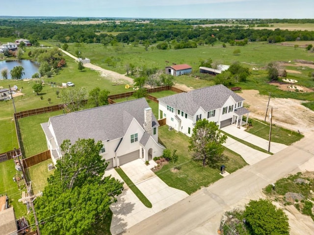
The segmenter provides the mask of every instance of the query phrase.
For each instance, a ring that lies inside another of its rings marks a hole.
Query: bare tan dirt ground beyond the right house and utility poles
[[[256,90],[243,90],[239,95],[245,99],[244,105],[251,111],[249,117],[264,120],[268,96],[260,95]],[[299,130],[302,134],[314,132],[314,112],[301,105],[302,102],[290,98],[271,98],[269,107],[273,107],[273,123]]]

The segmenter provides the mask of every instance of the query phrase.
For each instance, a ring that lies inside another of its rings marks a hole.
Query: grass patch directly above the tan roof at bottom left
[[[16,174],[13,160],[0,163],[0,194],[6,194],[9,197],[9,204],[14,207],[15,217],[19,218],[27,213],[26,205],[18,202],[22,191],[26,189],[19,190],[17,183],[13,181]],[[24,181],[21,181],[21,185],[24,187]]]

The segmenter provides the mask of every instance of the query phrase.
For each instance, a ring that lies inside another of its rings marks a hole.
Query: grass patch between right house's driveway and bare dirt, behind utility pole
[[[269,140],[269,124],[255,119],[251,120],[252,127],[247,129],[246,131],[265,140]],[[287,130],[276,125],[273,125],[271,129],[271,141],[273,142],[290,145],[296,141],[301,140],[303,137],[303,135],[295,131]]]

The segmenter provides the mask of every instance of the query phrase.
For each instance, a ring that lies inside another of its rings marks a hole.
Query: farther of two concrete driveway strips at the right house
[[[222,131],[227,132],[228,134],[235,136],[243,141],[247,141],[256,146],[259,146],[262,149],[268,151],[268,141],[262,139],[261,137],[255,136],[245,131],[246,128],[241,126],[237,128],[235,125],[229,125],[224,128],[221,128]],[[282,143],[270,142],[270,152],[278,153],[279,151],[287,148],[288,146]],[[238,153],[238,152],[237,152]],[[240,154],[240,153],[239,153]]]

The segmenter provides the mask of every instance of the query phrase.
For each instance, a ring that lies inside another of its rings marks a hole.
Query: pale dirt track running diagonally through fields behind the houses
[[[59,50],[61,50],[63,53],[65,53],[66,55],[72,57],[73,59],[75,59],[76,61],[78,60],[78,57],[72,55],[71,53],[62,50],[61,48],[59,48]],[[95,71],[99,71],[100,75],[102,77],[105,77],[106,79],[110,80],[111,82],[114,83],[126,83],[126,84],[133,84],[133,79],[130,77],[127,77],[125,75],[122,75],[118,72],[114,72],[114,71],[110,71],[110,70],[105,70],[97,65],[93,65],[91,63],[86,63],[84,64],[85,68],[89,68],[91,70],[95,70]]]

